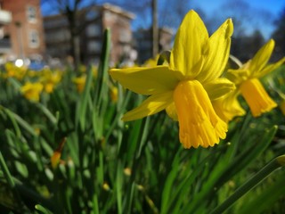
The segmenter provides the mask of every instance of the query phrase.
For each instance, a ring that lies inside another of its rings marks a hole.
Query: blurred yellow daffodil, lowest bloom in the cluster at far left
[[[20,92],[26,99],[34,102],[39,101],[39,95],[43,90],[43,84],[27,82],[24,86],[20,87]]]

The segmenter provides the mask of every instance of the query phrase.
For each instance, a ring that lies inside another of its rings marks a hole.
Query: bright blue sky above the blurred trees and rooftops
[[[118,0],[118,2],[122,1],[123,0]],[[108,1],[97,0],[97,2],[102,3]],[[141,0],[141,3],[143,2],[145,2],[145,0]],[[158,0],[159,9],[171,12],[172,8],[169,2],[168,0]],[[204,12],[205,22],[208,21],[212,25],[216,25],[214,29],[224,22],[225,19],[236,16],[242,21],[242,27],[246,33],[250,34],[255,29],[260,29],[266,39],[268,39],[273,32],[273,21],[278,18],[282,9],[285,8],[285,0],[174,0],[174,2],[175,4],[183,4],[185,11],[199,9]],[[240,11],[239,8],[241,8]],[[46,8],[42,8],[44,15],[48,13],[47,10]],[[167,16],[166,14],[165,16]],[[161,17],[161,19],[163,19],[163,17]],[[180,21],[177,22],[179,23]],[[133,21],[134,28],[146,28],[150,26],[150,24],[151,12],[145,13],[143,18],[137,16]]]

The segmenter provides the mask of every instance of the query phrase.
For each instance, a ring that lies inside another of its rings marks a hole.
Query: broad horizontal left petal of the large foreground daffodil
[[[167,66],[112,69],[109,72],[122,86],[141,95],[157,95],[173,90],[178,82],[175,72],[168,70]]]

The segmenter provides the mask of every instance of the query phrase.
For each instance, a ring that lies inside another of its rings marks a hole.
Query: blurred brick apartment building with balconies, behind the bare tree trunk
[[[132,49],[131,21],[134,14],[111,4],[94,5],[81,11],[85,25],[80,32],[80,57],[83,63],[98,63],[104,29],[111,31],[110,63],[118,62]],[[46,53],[65,60],[71,54],[69,25],[65,16],[58,14],[44,18]]]

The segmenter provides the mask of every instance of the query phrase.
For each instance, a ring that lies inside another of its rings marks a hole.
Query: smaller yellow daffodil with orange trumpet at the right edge
[[[259,78],[264,77],[265,74],[277,69],[285,62],[284,57],[278,62],[266,65],[273,53],[273,48],[274,41],[271,39],[260,48],[252,60],[242,65],[239,70],[228,70],[226,74],[226,77],[237,86],[237,90],[248,103],[254,117],[271,111],[277,106],[259,81]]]

